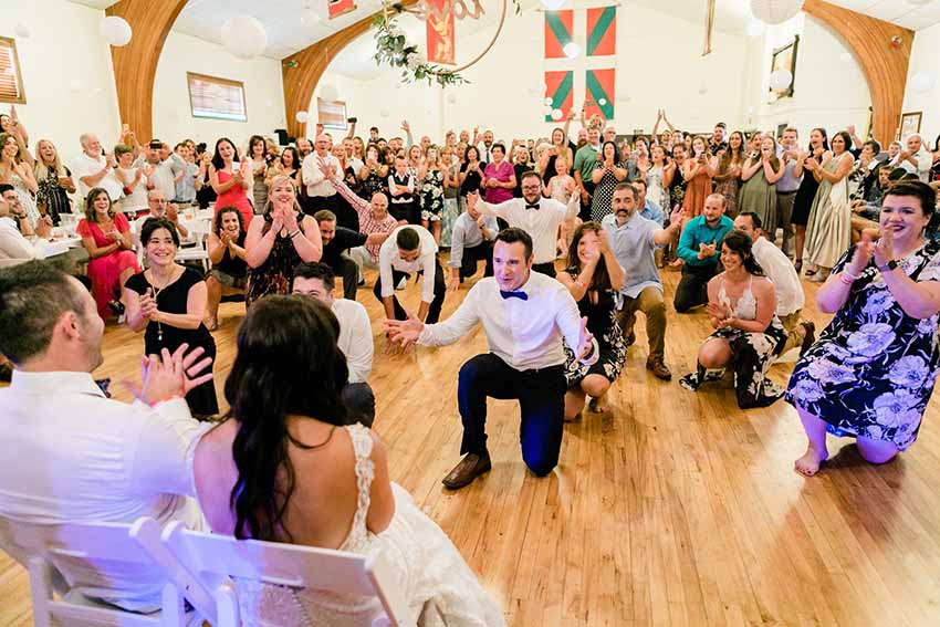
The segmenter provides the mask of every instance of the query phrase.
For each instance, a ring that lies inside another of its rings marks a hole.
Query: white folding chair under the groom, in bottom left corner
[[[29,569],[35,627],[186,625],[182,596],[169,582],[161,588],[160,612],[154,614],[95,600],[127,598],[135,575],[146,582],[161,578],[160,567],[129,530],[121,523],[38,525],[0,518],[0,547]]]

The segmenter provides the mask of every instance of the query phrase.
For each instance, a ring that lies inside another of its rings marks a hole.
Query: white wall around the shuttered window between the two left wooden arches
[[[244,83],[248,122],[192,117],[187,72]],[[220,45],[170,31],[154,81],[156,137],[170,144],[189,137],[197,143],[206,142],[211,149],[216,139],[224,136],[241,151],[251,135],[274,136],[275,128],[285,127],[284,122],[280,61],[264,56],[243,61]]]

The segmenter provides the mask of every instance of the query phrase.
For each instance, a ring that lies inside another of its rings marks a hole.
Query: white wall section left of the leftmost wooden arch
[[[69,161],[82,150],[82,133],[97,134],[105,145],[117,139],[111,50],[98,33],[103,17],[104,11],[63,0],[3,2],[0,34],[17,40],[27,95],[17,111],[31,148],[39,139],[51,139]],[[19,23],[29,29],[29,38],[15,35]]]

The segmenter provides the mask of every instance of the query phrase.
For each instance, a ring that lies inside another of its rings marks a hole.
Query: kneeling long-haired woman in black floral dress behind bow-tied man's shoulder
[[[577,302],[581,315],[587,318],[587,330],[597,339],[599,358],[593,366],[585,366],[565,346],[566,420],[574,420],[581,414],[587,396],[592,397],[592,411],[606,411],[605,395],[627,357],[616,307],[624,280],[624,269],[607,243],[604,227],[599,222],[581,224],[568,248],[567,269],[558,273],[558,281]]]

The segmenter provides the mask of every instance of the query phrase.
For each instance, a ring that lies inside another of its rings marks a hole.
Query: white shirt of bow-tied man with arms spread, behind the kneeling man
[[[581,199],[572,194],[567,207],[552,198],[539,197],[539,209],[526,209],[524,198],[513,198],[499,205],[490,205],[484,200],[477,201],[477,209],[488,216],[497,216],[529,233],[532,238],[532,254],[535,263],[553,263],[555,260],[555,243],[558,226],[577,216]]]

